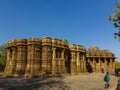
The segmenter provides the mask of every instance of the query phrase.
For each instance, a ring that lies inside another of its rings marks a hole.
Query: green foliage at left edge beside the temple
[[[0,71],[4,71],[6,64],[6,44],[0,46]]]

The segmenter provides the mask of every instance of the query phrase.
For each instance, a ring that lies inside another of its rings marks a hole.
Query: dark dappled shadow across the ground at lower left
[[[0,90],[69,90],[63,77],[12,78],[0,77]]]

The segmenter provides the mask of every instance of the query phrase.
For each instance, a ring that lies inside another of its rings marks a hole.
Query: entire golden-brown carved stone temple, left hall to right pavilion
[[[50,37],[14,39],[7,43],[5,76],[77,75],[88,72],[114,72],[114,54],[91,46],[69,44]],[[88,67],[88,65],[90,67]]]

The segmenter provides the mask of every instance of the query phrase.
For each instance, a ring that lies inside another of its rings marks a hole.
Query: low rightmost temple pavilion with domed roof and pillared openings
[[[91,46],[86,53],[86,60],[92,66],[93,72],[109,71],[114,72],[114,54],[109,50],[99,50],[96,46]]]

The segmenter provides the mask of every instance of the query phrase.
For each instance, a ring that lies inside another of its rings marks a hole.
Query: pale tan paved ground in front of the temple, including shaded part
[[[0,90],[115,90],[117,78],[110,75],[110,88],[104,88],[105,74],[92,73],[65,77],[32,79],[0,77]]]

